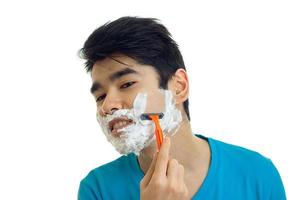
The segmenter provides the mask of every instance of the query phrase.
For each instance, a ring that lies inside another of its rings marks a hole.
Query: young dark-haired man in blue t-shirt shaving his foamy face
[[[92,170],[79,199],[286,199],[271,160],[192,133],[185,65],[157,20],[107,23],[89,36],[81,56],[91,72],[97,119],[123,156]],[[164,114],[159,151],[153,122],[141,119],[149,112]]]

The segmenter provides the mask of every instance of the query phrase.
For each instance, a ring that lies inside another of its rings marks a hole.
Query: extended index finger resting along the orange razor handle
[[[169,150],[171,145],[170,143],[170,138],[166,137],[163,141],[160,151],[158,152],[155,170],[153,173],[153,176],[155,177],[166,176],[167,174]]]

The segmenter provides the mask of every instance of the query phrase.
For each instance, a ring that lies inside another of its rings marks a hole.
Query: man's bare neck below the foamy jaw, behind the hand
[[[190,122],[187,119],[181,122],[179,130],[170,139],[170,158],[177,159],[184,166],[185,171],[199,170],[199,167],[207,165],[209,162],[208,143],[192,134]],[[147,172],[156,151],[156,141],[154,141],[140,153],[138,160],[144,173]]]

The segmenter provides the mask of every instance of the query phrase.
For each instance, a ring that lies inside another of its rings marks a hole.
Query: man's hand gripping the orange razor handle
[[[170,138],[166,137],[140,182],[141,200],[188,199],[184,168],[176,159],[169,158],[170,146]]]

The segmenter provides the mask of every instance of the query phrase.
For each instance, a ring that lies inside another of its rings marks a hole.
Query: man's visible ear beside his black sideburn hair
[[[176,104],[185,102],[189,96],[189,81],[184,69],[178,69],[168,82],[168,88],[172,91]]]

